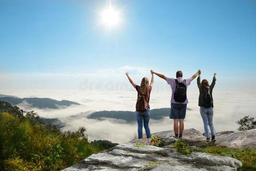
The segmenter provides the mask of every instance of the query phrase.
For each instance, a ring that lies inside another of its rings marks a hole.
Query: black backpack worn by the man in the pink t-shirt
[[[175,82],[174,100],[183,103],[187,99],[187,86],[184,83],[179,83],[177,79],[175,79]]]

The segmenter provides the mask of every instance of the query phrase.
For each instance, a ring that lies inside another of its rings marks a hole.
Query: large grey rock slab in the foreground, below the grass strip
[[[117,145],[71,166],[68,170],[236,170],[241,162],[231,157],[192,152],[184,156],[165,146]]]

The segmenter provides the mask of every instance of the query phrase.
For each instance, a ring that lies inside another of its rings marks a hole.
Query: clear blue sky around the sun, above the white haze
[[[108,2],[1,0],[0,73],[131,66],[255,79],[256,1],[111,1],[121,18],[111,28],[100,16]]]

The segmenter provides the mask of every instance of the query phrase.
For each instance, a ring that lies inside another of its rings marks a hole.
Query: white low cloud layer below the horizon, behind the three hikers
[[[170,91],[151,93],[151,108],[170,108]],[[17,96],[39,96],[50,97],[57,100],[72,100],[82,105],[72,105],[64,109],[34,109],[42,117],[58,118],[66,124],[63,130],[74,130],[78,127],[86,127],[90,140],[107,139],[116,143],[124,143],[133,139],[137,135],[137,124],[127,124],[122,120],[107,119],[95,120],[87,119],[86,116],[94,111],[134,111],[136,103],[136,91],[124,92],[97,92],[80,90],[58,91],[16,91]],[[199,113],[198,92],[188,91],[190,103],[187,110],[185,128],[195,128],[203,132],[203,121]],[[226,92],[214,93],[214,124],[216,131],[237,130],[238,124],[235,121],[243,116],[250,115],[256,117],[254,104],[256,103],[256,93]],[[21,108],[26,110],[29,107],[23,104]],[[135,115],[133,114],[136,120]],[[162,120],[150,120],[151,132],[166,131],[172,129],[172,120],[165,117]]]

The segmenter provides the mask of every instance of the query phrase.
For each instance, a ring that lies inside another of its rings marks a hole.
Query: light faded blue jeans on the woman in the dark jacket
[[[213,107],[210,107],[210,108],[200,107],[200,114],[203,119],[203,125],[204,125],[204,131],[206,133],[206,137],[210,138],[209,127],[211,129],[211,136],[215,136],[215,129],[212,123],[212,118],[214,114]]]

